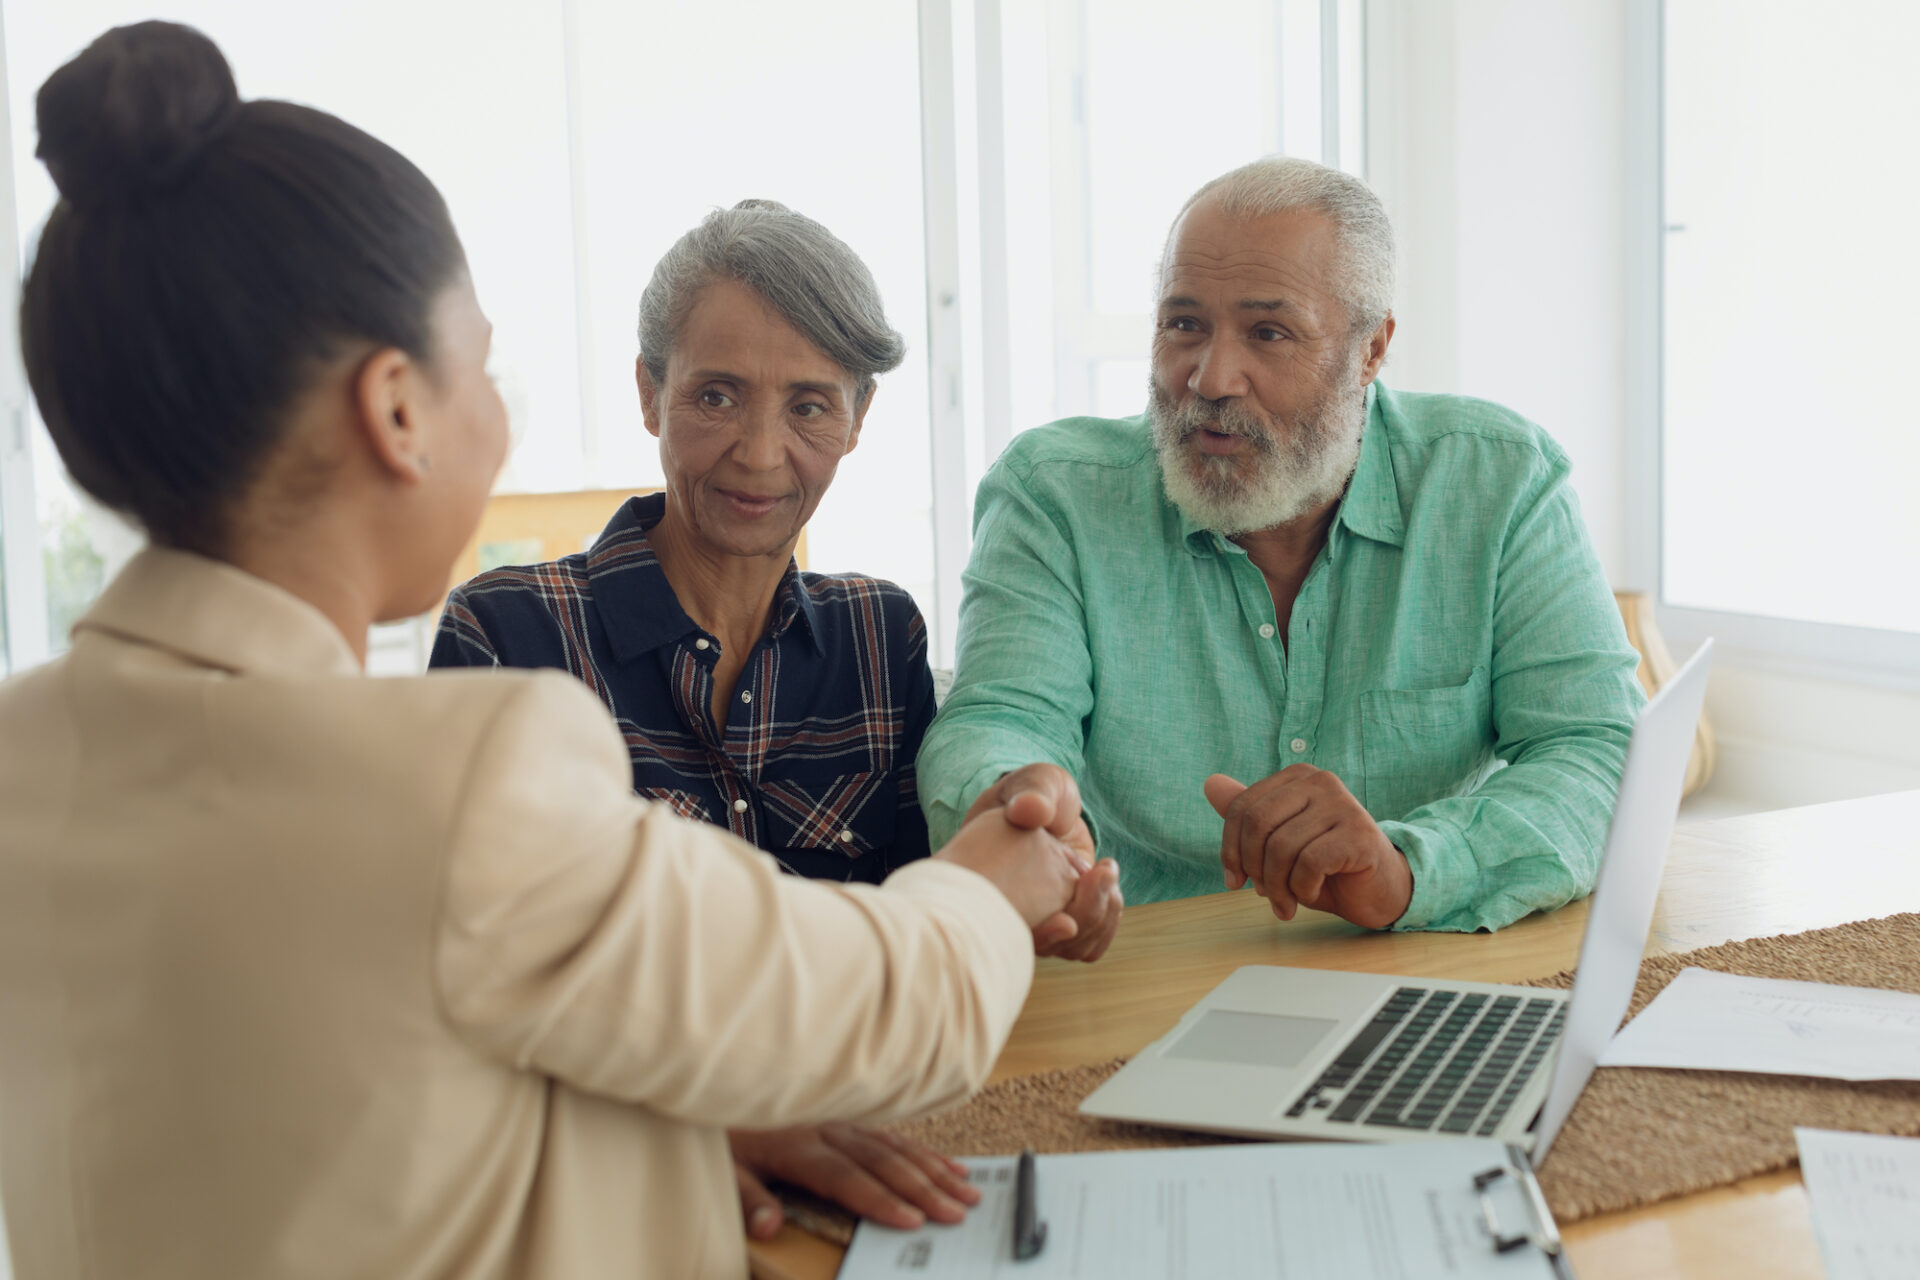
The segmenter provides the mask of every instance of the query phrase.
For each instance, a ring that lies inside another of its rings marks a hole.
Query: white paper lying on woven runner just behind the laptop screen
[[[1682,969],[1599,1065],[1920,1080],[1920,996]]]

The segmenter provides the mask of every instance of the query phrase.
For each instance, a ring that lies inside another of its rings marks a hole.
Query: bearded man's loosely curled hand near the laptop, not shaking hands
[[[1327,770],[1290,764],[1252,787],[1213,773],[1206,798],[1227,819],[1219,837],[1227,889],[1252,881],[1281,919],[1309,906],[1386,929],[1413,900],[1405,854]]]

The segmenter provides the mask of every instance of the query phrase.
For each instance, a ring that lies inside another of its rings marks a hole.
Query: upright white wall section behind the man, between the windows
[[[1622,581],[1622,6],[1373,0],[1369,50],[1369,178],[1402,261],[1386,380],[1548,428]]]

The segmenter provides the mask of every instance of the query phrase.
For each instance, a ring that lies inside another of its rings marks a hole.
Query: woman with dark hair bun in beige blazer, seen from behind
[[[743,1276],[724,1126],[975,1088],[1087,871],[1050,800],[824,885],[566,676],[367,679],[507,447],[440,194],[169,23],[38,127],[29,380],[152,545],[0,685],[15,1274]]]

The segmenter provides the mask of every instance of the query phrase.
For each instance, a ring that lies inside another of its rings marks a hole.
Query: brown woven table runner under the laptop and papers
[[[1640,967],[1628,1015],[1680,969],[1920,992],[1920,915],[1726,942]],[[1571,986],[1572,971],[1530,983]],[[1231,1142],[1085,1117],[1081,1100],[1125,1059],[1016,1077],[973,1102],[895,1132],[948,1155],[1116,1151]],[[1651,1205],[1793,1165],[1793,1126],[1920,1134],[1920,1082],[1853,1084],[1736,1071],[1596,1071],[1561,1130],[1540,1184],[1561,1222]]]

